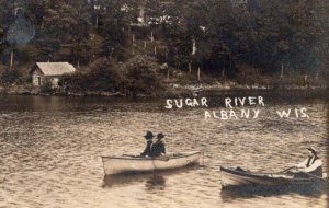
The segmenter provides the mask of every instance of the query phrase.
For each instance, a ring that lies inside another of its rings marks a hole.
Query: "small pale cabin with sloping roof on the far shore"
[[[36,62],[30,74],[34,86],[41,86],[46,82],[50,82],[53,88],[56,88],[61,76],[73,73],[75,71],[76,68],[68,62]]]

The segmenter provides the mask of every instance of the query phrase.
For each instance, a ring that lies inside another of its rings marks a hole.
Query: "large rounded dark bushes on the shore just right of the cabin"
[[[65,76],[59,84],[70,93],[121,93],[127,96],[156,95],[163,90],[163,76],[155,58],[136,56],[115,66],[111,59],[97,60],[84,73]]]

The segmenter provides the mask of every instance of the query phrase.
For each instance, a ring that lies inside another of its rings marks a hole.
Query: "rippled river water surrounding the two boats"
[[[182,109],[166,109],[166,100],[0,96],[0,207],[326,207],[326,192],[220,190],[219,165],[280,171],[304,160],[309,146],[326,158],[324,99],[265,93],[265,107],[245,107],[260,109],[256,119],[205,119],[236,95],[208,95],[208,108]],[[303,107],[307,118],[276,114]],[[100,155],[140,153],[146,130],[164,132],[170,152],[204,149],[204,165],[104,177]]]

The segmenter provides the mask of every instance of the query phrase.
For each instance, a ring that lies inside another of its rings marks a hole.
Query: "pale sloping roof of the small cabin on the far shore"
[[[76,71],[76,68],[68,62],[36,62],[36,66],[44,76],[63,76]]]

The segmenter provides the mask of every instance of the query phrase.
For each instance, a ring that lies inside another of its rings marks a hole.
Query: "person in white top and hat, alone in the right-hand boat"
[[[307,148],[308,158],[295,166],[297,172],[292,172],[296,177],[322,177],[322,162],[314,148]]]

